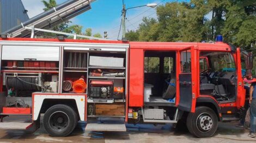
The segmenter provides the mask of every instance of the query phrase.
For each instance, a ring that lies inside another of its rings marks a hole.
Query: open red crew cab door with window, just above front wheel
[[[176,106],[186,112],[195,112],[196,97],[198,96],[197,73],[198,68],[196,61],[199,56],[194,49],[194,46],[186,47],[177,52],[177,67],[176,67]]]

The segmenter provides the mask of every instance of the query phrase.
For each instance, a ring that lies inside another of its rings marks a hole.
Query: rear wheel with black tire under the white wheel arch
[[[42,120],[45,131],[52,137],[66,137],[74,131],[78,117],[67,105],[54,105],[47,109]]]

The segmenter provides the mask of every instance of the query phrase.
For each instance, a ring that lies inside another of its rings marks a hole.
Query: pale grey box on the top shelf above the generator
[[[92,66],[92,67],[124,67],[124,58],[90,56],[89,66]]]

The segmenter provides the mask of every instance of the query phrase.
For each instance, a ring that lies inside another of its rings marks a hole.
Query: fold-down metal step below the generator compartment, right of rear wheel
[[[126,132],[126,127],[125,124],[89,123],[86,125],[86,131]]]

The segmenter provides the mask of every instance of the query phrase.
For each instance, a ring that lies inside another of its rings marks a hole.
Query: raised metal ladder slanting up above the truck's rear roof
[[[51,29],[64,21],[68,21],[69,19],[90,10],[90,3],[94,1],[95,0],[69,0],[56,6],[56,8],[42,12],[40,15],[3,32],[3,34],[7,34],[8,37],[29,37],[31,32],[28,31],[28,27]]]

